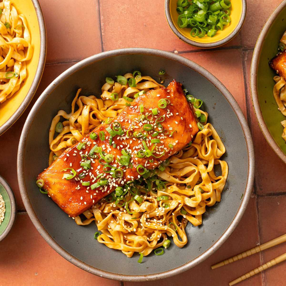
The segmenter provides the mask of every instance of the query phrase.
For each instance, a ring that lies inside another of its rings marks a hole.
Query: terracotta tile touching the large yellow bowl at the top
[[[97,1],[40,0],[39,3],[47,31],[47,63],[79,61],[102,51]]]

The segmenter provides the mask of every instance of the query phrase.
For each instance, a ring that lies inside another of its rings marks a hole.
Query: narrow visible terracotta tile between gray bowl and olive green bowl
[[[250,78],[252,54],[253,51],[247,51],[245,60],[247,79]],[[276,155],[263,136],[255,117],[255,112],[251,101],[250,82],[247,81],[246,84],[249,126],[251,129],[255,150],[255,190],[257,194],[285,192],[284,176],[286,172],[286,165]]]

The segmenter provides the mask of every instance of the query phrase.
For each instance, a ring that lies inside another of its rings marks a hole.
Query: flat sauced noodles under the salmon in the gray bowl
[[[126,79],[134,76],[134,73],[124,75]],[[51,123],[49,164],[102,121],[116,117],[130,104],[126,97],[134,98],[138,92],[162,87],[151,77],[140,76],[140,73],[135,79],[136,87],[118,82],[104,84],[101,99],[80,96],[79,89],[72,102],[72,112],[67,114],[60,110]],[[116,100],[112,98],[114,93],[118,94]],[[101,234],[95,234],[95,238],[109,248],[121,250],[127,257],[138,252],[141,258],[154,249],[155,254],[162,254],[163,250],[157,248],[167,248],[170,244],[168,237],[172,237],[175,245],[183,247],[187,243],[187,222],[194,226],[202,224],[206,206],[221,201],[228,175],[227,163],[220,160],[225,153],[221,138],[207,123],[208,114],[195,106],[194,111],[199,111],[206,120],[191,144],[165,160],[159,168],[150,170],[147,176],[144,174],[119,188],[121,192],[116,190],[100,200],[85,211],[82,218],[76,217],[76,223],[88,225],[94,221],[101,231]],[[61,117],[66,120],[54,139]],[[221,175],[216,174],[216,165],[220,166]]]

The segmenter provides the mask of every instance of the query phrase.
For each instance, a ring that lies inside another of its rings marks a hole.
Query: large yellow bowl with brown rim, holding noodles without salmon
[[[46,59],[46,29],[38,0],[11,0],[18,14],[27,18],[33,56],[27,63],[27,77],[20,89],[0,104],[0,135],[21,116],[31,102],[41,80]]]

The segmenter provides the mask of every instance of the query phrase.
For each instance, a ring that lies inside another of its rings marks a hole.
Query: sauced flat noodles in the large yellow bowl
[[[19,90],[27,77],[26,61],[33,55],[27,19],[11,1],[0,2],[0,103]]]

